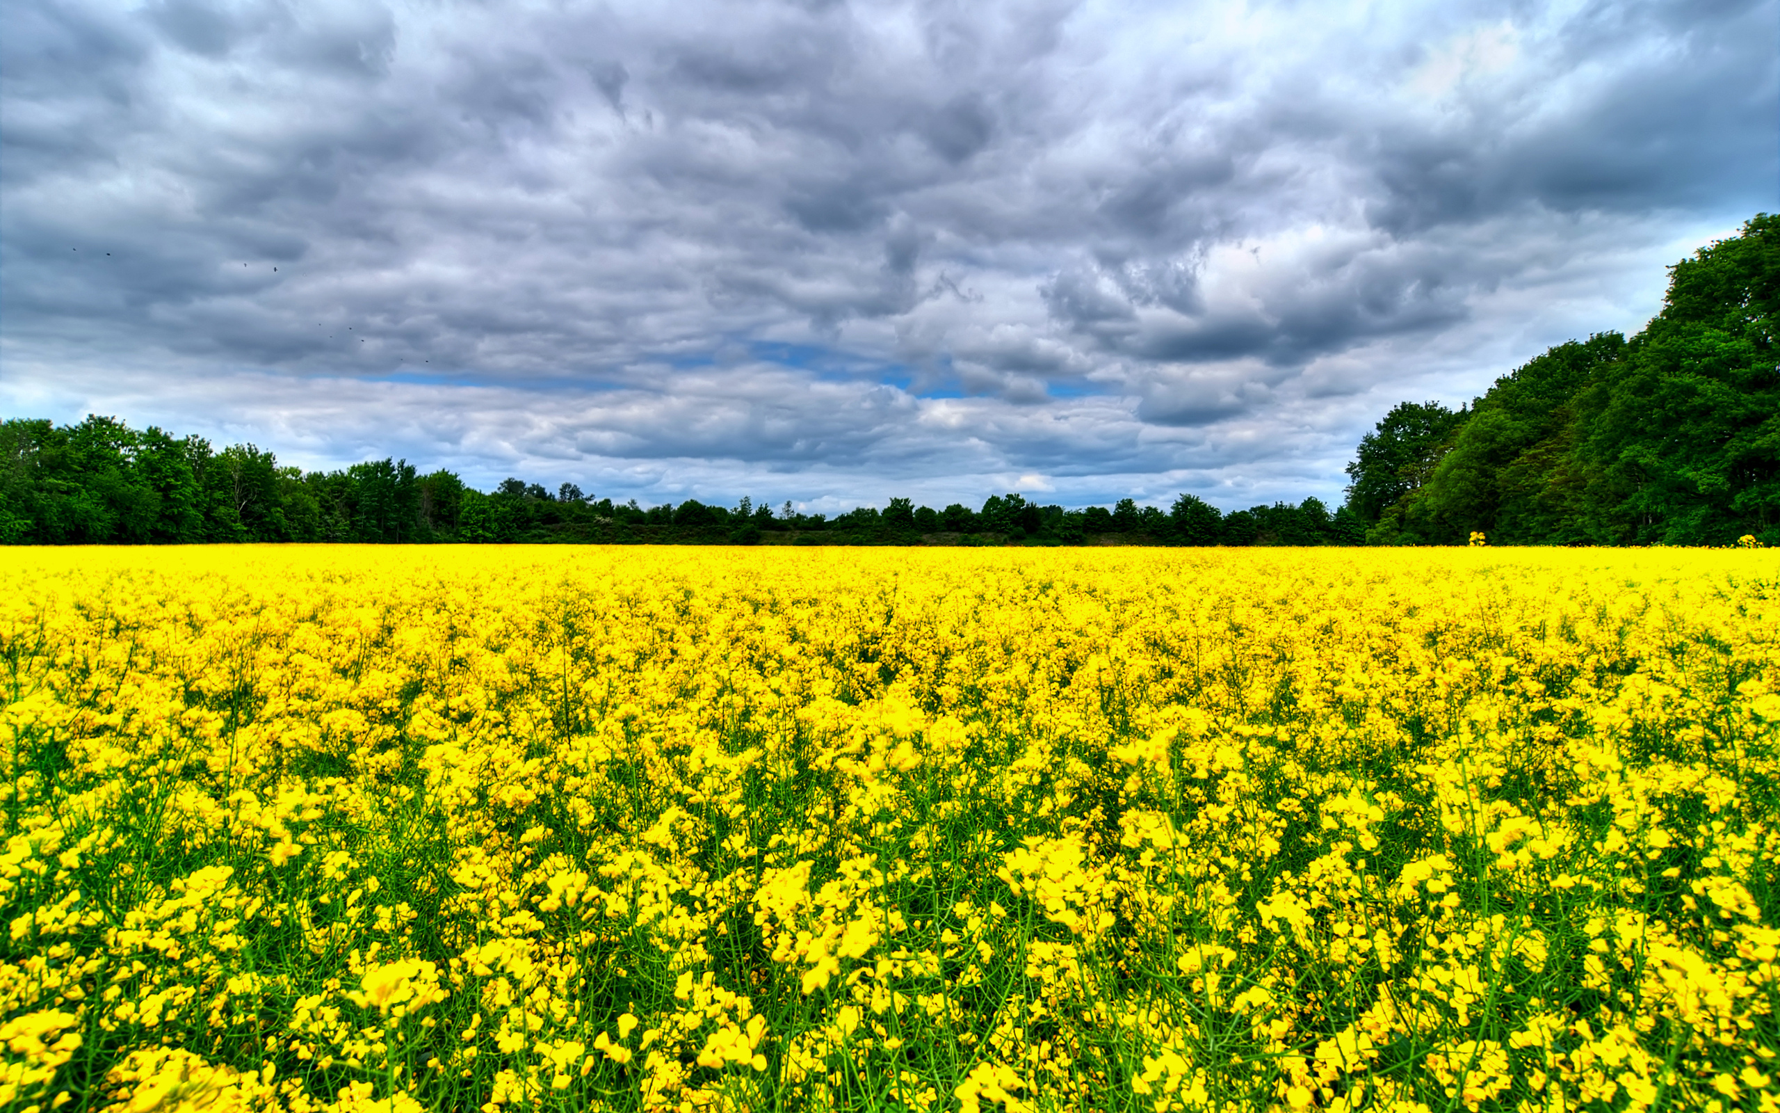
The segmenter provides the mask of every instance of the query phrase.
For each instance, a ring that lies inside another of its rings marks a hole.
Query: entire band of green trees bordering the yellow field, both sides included
[[[1472,404],[1403,402],[1360,442],[1347,500],[1221,513],[1123,499],[1064,509],[1022,495],[933,509],[910,499],[833,518],[685,500],[614,504],[564,483],[493,492],[402,459],[336,472],[255,445],[132,429],[0,424],[0,541],[578,541],[790,545],[1780,545],[1780,219],[1671,267],[1630,340],[1552,347]]]

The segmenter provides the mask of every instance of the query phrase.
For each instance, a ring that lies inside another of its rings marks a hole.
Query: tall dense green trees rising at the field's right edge
[[[1630,340],[1559,344],[1458,411],[1404,402],[1347,465],[1374,545],[1780,545],[1780,217],[1670,269]]]

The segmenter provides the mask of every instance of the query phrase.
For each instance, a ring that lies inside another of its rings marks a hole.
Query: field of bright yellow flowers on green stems
[[[0,557],[5,1109],[1780,1109],[1780,563]]]

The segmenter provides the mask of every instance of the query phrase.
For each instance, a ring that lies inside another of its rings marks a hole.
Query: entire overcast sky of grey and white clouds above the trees
[[[1776,208],[1776,0],[0,5],[0,413],[644,504],[1340,500]]]

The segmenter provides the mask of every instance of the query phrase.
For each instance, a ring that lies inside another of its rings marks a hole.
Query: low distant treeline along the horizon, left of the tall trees
[[[1182,495],[1171,511],[1132,499],[1107,509],[1040,506],[991,495],[979,509],[892,499],[885,509],[801,515],[742,499],[643,508],[507,479],[493,492],[402,459],[340,472],[279,467],[253,445],[212,449],[201,436],[132,429],[109,417],[78,426],[0,426],[0,540],[23,545],[199,541],[578,541],[803,545],[1356,545],[1358,518],[1323,502],[1223,515]]]

